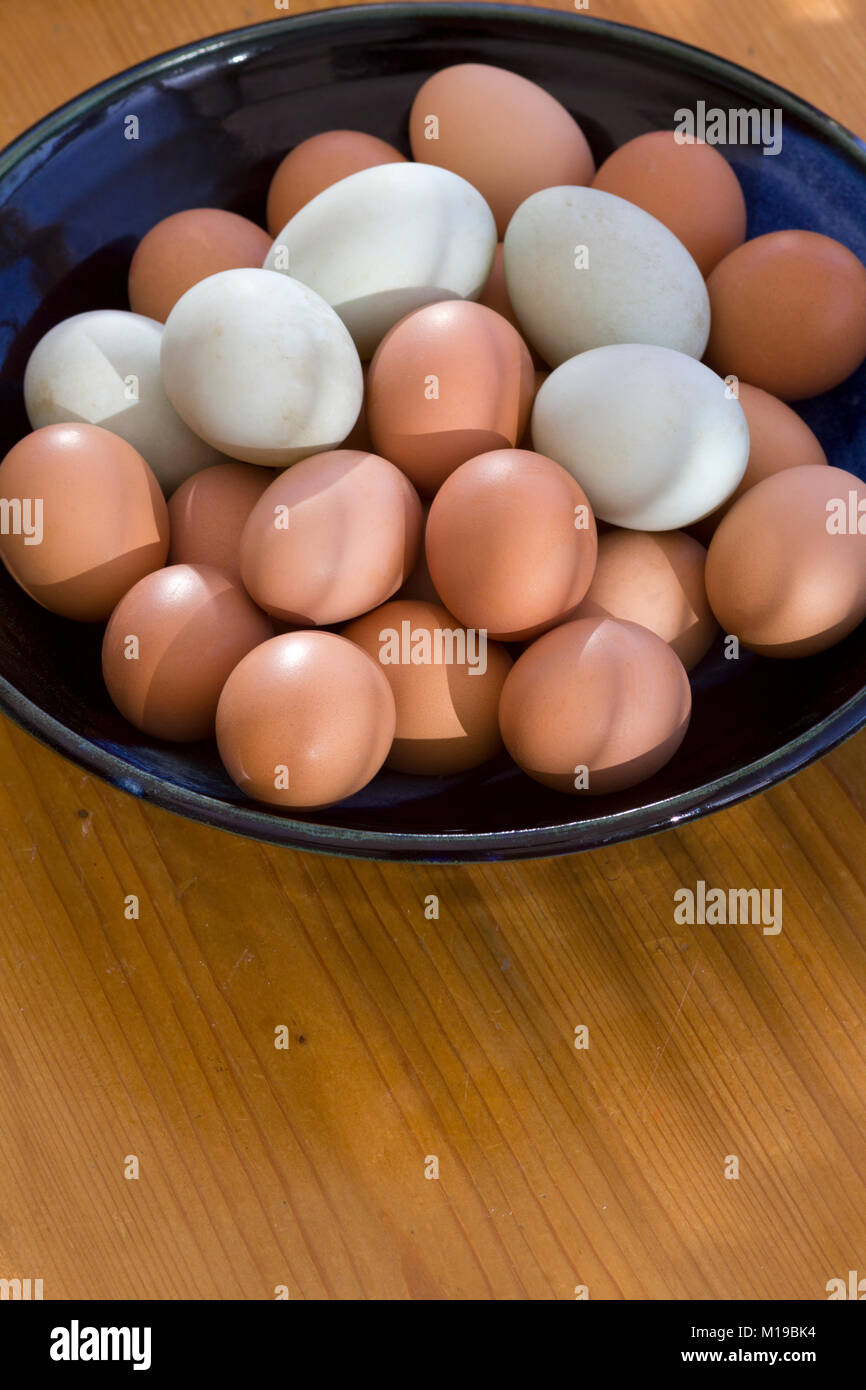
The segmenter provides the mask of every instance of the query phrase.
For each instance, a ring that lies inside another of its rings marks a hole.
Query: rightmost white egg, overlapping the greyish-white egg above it
[[[532,442],[589,498],[596,517],[674,531],[720,506],[742,478],[749,427],[721,377],[670,348],[620,343],[571,357],[532,407]]]

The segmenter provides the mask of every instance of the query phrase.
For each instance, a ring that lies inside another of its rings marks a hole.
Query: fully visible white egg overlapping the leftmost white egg
[[[163,382],[190,430],[270,467],[335,449],[363,396],[331,306],[270,270],[224,270],[181,296],[163,334]]]

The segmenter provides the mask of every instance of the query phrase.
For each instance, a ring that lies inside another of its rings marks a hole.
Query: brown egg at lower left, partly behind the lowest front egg
[[[170,564],[146,574],[114,609],[103,677],[121,714],[153,738],[213,738],[225,681],[272,635],[270,619],[225,571]]]

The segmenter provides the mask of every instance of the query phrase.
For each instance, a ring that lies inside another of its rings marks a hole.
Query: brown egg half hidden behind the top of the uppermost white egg
[[[364,131],[322,131],[302,140],[277,165],[268,189],[267,224],[278,236],[304,203],[350,174],[377,164],[405,164],[393,145]]]

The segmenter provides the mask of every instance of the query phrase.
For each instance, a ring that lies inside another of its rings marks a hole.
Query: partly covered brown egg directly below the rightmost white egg
[[[706,656],[719,627],[706,598],[706,550],[683,531],[607,531],[575,619],[639,623],[669,644],[687,671]]]

